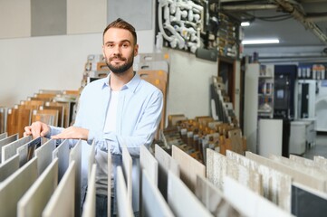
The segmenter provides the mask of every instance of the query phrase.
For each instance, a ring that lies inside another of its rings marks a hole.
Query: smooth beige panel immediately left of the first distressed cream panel
[[[172,147],[172,157],[178,162],[180,168],[180,179],[188,185],[188,188],[195,192],[197,184],[197,175],[206,177],[206,166],[202,165],[192,156],[179,149],[177,146]]]

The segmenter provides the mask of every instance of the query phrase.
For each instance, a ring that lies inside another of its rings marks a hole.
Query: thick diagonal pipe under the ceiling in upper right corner
[[[320,39],[320,41],[327,44],[327,36],[324,33],[322,33],[322,30],[316,24],[313,24],[313,22],[307,20],[303,12],[299,11],[292,4],[284,0],[274,0],[274,1],[275,3],[280,5],[286,12],[292,14],[293,18],[300,21],[305,28],[310,29]]]

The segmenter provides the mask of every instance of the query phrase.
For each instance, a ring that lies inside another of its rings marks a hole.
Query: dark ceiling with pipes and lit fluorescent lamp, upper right
[[[220,0],[212,2],[218,3],[216,6],[226,14],[240,21],[251,22],[251,25],[244,29],[245,39],[279,38],[278,45],[270,45],[274,47],[327,47],[327,0]],[[264,46],[269,47],[269,45]]]

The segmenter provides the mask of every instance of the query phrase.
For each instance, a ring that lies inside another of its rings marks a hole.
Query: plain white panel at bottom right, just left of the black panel
[[[285,212],[263,196],[254,193],[228,176],[224,181],[224,195],[245,216],[292,216],[289,212]]]

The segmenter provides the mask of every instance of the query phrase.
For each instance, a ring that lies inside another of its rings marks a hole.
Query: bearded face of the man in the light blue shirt
[[[124,73],[133,66],[138,48],[128,30],[111,28],[103,36],[103,55],[109,69],[115,74]]]

